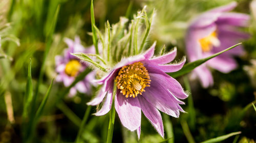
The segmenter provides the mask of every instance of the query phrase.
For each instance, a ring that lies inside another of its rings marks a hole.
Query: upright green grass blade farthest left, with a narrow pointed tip
[[[29,113],[29,106],[31,105],[31,101],[33,99],[33,84],[32,84],[32,76],[31,76],[31,59],[29,60],[28,66],[28,77],[27,77],[27,85],[26,85],[26,92],[23,99],[23,120],[26,120]]]

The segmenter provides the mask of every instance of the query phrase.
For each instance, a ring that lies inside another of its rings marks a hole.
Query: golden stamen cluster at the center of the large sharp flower
[[[140,62],[123,66],[115,80],[117,89],[121,90],[126,98],[142,95],[145,87],[150,87],[150,81],[147,69]]]

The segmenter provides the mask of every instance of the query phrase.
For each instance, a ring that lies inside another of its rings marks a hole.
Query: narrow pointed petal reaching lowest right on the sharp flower
[[[153,107],[143,97],[138,96],[138,99],[140,101],[141,110],[144,113],[145,117],[150,120],[157,132],[163,137],[164,131],[161,113],[156,107]]]

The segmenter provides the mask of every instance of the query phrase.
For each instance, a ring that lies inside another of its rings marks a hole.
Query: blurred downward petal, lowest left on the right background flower
[[[194,69],[197,76],[199,77],[202,86],[204,88],[208,88],[212,84],[214,84],[214,78],[212,78],[211,72],[207,69],[205,65],[201,65]]]

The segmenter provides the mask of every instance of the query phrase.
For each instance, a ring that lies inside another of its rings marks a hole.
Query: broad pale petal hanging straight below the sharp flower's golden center
[[[119,119],[124,127],[134,131],[140,127],[141,109],[138,98],[125,98],[117,91],[115,98],[115,108]]]

